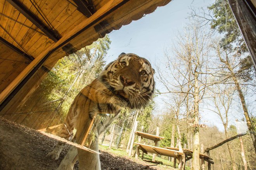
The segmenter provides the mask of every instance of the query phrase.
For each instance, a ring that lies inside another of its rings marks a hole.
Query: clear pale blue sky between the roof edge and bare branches
[[[157,63],[164,61],[164,49],[175,43],[175,35],[182,32],[189,22],[190,6],[207,7],[211,3],[214,3],[214,0],[173,0],[142,19],[112,31],[109,34],[112,42],[107,54],[107,63],[116,59],[122,52],[135,53],[147,58],[156,68]],[[156,88],[161,90],[163,86],[156,81]],[[161,95],[155,101],[156,113],[163,112]],[[202,121],[223,130],[220,119],[213,113],[202,112]]]

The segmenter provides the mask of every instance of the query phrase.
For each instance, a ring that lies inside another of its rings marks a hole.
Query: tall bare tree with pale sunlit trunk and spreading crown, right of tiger
[[[194,134],[192,169],[200,169],[199,165],[199,103],[207,88],[215,83],[214,71],[209,66],[209,39],[203,27],[186,29],[180,35],[178,45],[173,49],[174,56],[166,53],[166,70],[159,70],[157,78],[166,93],[182,93],[190,97],[193,103],[192,122]],[[169,75],[166,76],[166,75]]]

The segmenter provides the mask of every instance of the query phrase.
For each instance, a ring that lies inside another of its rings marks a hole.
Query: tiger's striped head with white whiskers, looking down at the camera
[[[103,82],[131,109],[145,107],[154,93],[154,69],[147,59],[121,53],[101,74]]]

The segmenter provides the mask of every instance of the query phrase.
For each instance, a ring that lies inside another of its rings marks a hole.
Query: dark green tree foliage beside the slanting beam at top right
[[[221,46],[224,49],[235,50],[239,53],[247,52],[246,44],[227,0],[216,0],[208,9],[212,10],[215,18],[211,21],[211,28],[224,34],[221,39]]]

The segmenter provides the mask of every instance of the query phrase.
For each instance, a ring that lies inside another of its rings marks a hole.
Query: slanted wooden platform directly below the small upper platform
[[[177,155],[182,155],[183,153],[180,151],[176,151],[176,150],[170,150],[170,149],[166,149],[166,148],[160,148],[157,146],[151,146],[151,145],[145,145],[142,143],[136,143],[136,145],[139,145],[139,148],[144,152],[144,153],[155,153],[155,154],[159,154],[159,155],[164,155],[164,156],[171,156],[171,157],[176,157]]]

